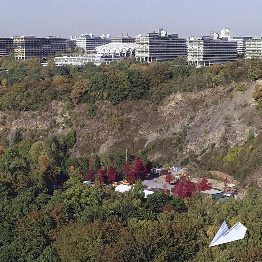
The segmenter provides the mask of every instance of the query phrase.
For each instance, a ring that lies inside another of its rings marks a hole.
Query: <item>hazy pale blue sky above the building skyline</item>
[[[261,0],[8,0],[1,1],[0,37],[13,35],[118,36],[164,28],[178,36],[262,35]]]

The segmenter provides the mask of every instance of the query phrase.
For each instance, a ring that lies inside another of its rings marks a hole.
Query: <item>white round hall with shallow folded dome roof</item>
[[[135,48],[135,44],[108,43],[105,45],[95,47],[95,51],[97,54],[134,56]]]

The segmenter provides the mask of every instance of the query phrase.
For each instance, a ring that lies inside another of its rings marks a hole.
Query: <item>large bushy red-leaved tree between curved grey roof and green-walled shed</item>
[[[176,186],[173,189],[173,195],[182,199],[186,197],[192,197],[196,192],[196,185],[191,182],[189,178],[182,177],[180,181],[176,182]]]

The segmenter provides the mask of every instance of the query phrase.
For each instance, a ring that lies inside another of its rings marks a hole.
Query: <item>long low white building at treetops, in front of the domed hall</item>
[[[54,58],[56,66],[75,65],[82,66],[87,63],[94,63],[100,65],[101,63],[109,64],[111,62],[118,62],[123,59],[120,56],[106,56],[102,54],[61,54]]]

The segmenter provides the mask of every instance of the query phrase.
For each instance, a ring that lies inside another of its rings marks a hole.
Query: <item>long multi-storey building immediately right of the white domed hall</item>
[[[172,61],[178,56],[187,55],[186,38],[177,34],[168,34],[162,28],[158,33],[139,34],[136,37],[136,60],[164,62]]]

